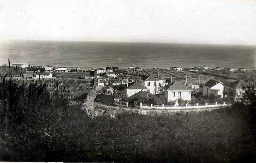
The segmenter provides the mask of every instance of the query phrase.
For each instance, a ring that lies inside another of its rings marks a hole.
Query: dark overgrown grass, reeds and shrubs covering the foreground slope
[[[64,89],[0,79],[0,160],[33,162],[255,162],[255,108],[88,117]],[[82,94],[82,93],[81,93]],[[83,96],[86,97],[86,96]]]

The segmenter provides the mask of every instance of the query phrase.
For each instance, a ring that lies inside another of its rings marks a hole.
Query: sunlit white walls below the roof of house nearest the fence
[[[174,101],[176,99],[183,99],[183,100],[191,100],[191,91],[166,91],[167,93],[167,101]],[[180,92],[180,97],[179,97],[179,92]],[[174,93],[174,96],[173,96]]]

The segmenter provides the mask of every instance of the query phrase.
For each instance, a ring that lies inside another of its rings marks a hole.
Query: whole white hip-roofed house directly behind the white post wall
[[[188,101],[191,100],[191,92],[193,90],[185,84],[174,82],[172,84],[167,84],[165,89],[165,97],[167,97],[168,102],[177,100],[179,98]]]

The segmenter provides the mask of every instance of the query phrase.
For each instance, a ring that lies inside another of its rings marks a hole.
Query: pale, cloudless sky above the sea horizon
[[[256,1],[1,0],[15,39],[256,45]]]

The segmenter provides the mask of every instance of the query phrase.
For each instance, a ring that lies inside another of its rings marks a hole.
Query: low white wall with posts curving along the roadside
[[[193,109],[193,108],[214,108],[214,107],[222,107],[222,106],[228,106],[229,104],[223,103],[211,103],[211,104],[186,104],[186,105],[146,105],[146,104],[140,104],[141,109]]]

